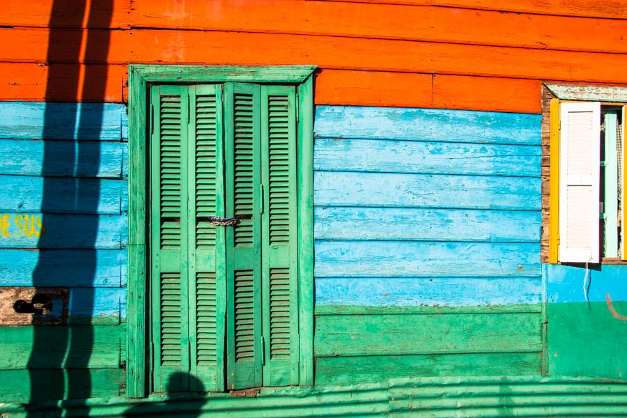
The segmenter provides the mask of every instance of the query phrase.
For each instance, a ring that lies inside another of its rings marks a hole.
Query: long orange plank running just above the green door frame
[[[81,30],[55,31],[53,62],[196,63],[206,65],[315,64],[322,68],[434,72],[455,75],[624,82],[627,54],[549,51],[478,45],[142,29],[88,31],[93,45],[110,36],[109,54],[93,49],[84,59],[72,48]],[[0,29],[0,61],[45,62],[47,29]],[[77,56],[79,58],[77,59]]]

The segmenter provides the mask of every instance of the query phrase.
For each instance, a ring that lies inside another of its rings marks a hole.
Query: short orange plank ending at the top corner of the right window
[[[433,107],[540,113],[541,90],[538,80],[435,75]]]

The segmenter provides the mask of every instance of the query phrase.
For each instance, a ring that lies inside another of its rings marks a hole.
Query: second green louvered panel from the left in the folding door
[[[189,353],[192,391],[224,390],[226,272],[224,227],[208,217],[224,217],[222,167],[222,88],[189,87],[187,263]]]

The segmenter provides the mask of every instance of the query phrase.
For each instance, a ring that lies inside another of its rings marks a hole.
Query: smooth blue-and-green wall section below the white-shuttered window
[[[627,265],[545,265],[550,376],[627,380]]]

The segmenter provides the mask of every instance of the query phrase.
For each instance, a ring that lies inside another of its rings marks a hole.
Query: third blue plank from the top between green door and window
[[[314,204],[540,210],[540,186],[531,177],[316,171]]]

